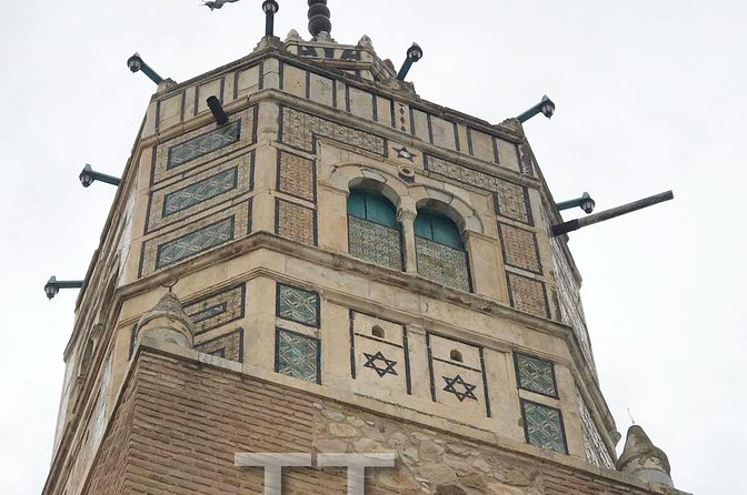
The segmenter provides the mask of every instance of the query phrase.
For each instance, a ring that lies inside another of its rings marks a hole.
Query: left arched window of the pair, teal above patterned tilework
[[[356,257],[402,270],[402,228],[381,194],[353,190],[348,196],[348,251]]]

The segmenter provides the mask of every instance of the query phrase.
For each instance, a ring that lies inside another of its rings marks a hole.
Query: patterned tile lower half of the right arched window
[[[467,253],[419,236],[415,249],[420,275],[460,291],[471,290]]]

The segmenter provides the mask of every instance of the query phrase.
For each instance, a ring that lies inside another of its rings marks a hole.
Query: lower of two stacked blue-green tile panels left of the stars
[[[283,375],[319,383],[319,340],[278,329],[275,366]]]

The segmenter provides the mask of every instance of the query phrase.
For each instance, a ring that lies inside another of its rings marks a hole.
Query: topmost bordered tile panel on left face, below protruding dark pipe
[[[250,107],[231,122],[216,127],[215,123],[173,138],[156,149],[152,183],[161,182],[215,159],[255,143],[257,107]]]

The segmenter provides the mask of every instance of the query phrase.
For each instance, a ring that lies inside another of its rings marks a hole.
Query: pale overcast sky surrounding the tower
[[[277,32],[308,38],[306,2]],[[77,291],[155,91],[136,50],[185,81],[248,54],[259,0],[6,1],[0,14],[0,493],[40,493]],[[744,320],[747,3],[737,0],[330,0],[332,36],[369,34],[397,67],[416,40],[419,94],[500,122],[547,93],[525,129],[555,199],[597,208],[673,189],[676,200],[571,234],[602,392],[667,452],[677,487],[740,493],[747,458]],[[568,212],[575,218],[579,211]],[[621,448],[622,442],[618,446]]]

